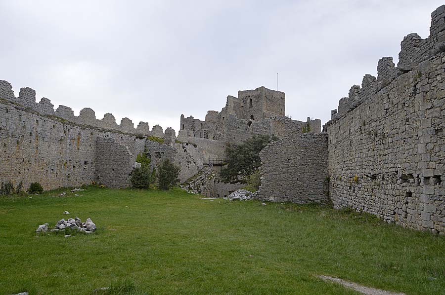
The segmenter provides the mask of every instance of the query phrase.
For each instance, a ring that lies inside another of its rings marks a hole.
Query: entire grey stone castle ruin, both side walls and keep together
[[[36,103],[33,89],[15,97],[0,80],[0,181],[126,187],[145,152],[153,167],[165,158],[178,164],[183,188],[227,197],[243,185],[219,180],[226,146],[267,134],[279,140],[260,153],[256,198],[332,202],[445,234],[445,5],[431,16],[430,36],[404,37],[397,67],[380,59],[377,77],[352,86],[322,131],[319,119],[286,117],[284,93],[265,87],[228,96],[204,121],[181,115],[176,138],[128,118],[118,125],[110,113],[96,119],[89,108],[54,111],[46,98]]]

